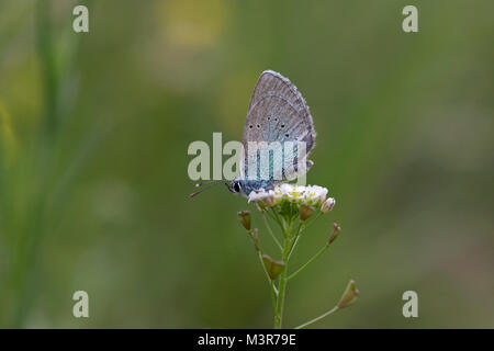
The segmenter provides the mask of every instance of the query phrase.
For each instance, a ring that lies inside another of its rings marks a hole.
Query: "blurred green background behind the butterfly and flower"
[[[1,0],[0,326],[271,327],[236,217],[254,208],[223,186],[188,200],[187,148],[240,139],[273,69],[311,106],[308,183],[337,201],[293,268],[343,227],[289,285],[285,326],[355,279],[360,299],[314,327],[493,328],[493,18],[491,0]]]

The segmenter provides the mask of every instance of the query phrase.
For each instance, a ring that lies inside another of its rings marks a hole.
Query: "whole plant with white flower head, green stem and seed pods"
[[[328,213],[335,207],[335,199],[327,197],[327,189],[323,186],[301,186],[287,183],[277,185],[272,190],[260,189],[258,191],[250,192],[248,201],[254,202],[263,216],[268,229],[267,231],[280,249],[281,259],[276,259],[276,256],[271,257],[266,254],[263,251],[259,231],[252,226],[250,212],[238,212],[238,219],[247,230],[249,239],[254,244],[271,288],[271,302],[274,312],[274,328],[282,327],[282,312],[288,282],[305,270],[305,268],[318,257],[321,257],[333,245],[341,231],[341,227],[338,224],[333,224],[333,230],[326,239],[325,245],[312,258],[310,258],[305,264],[289,274],[288,270],[290,257],[292,256],[301,237],[305,236],[305,234],[302,233],[304,233],[317,218],[319,218],[321,215]],[[313,218],[307,222],[307,219],[312,216]],[[282,234],[281,238],[271,229],[268,218],[278,224]],[[355,285],[355,282],[350,280],[344,295],[335,307],[296,328],[305,328],[313,322],[329,316],[336,310],[349,306],[357,299],[358,296],[359,291]]]

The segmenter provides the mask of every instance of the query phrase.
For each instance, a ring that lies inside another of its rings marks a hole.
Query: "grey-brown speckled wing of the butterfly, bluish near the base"
[[[249,157],[249,141],[303,141],[305,156],[315,147],[314,123],[304,98],[288,78],[272,70],[260,75],[250,99],[243,137],[245,174],[248,174],[252,162],[257,162],[258,168],[260,166],[258,156]],[[270,163],[271,168],[283,168],[281,165],[289,162],[296,165],[296,154],[284,152],[283,160],[276,158],[272,162],[274,165]],[[307,166],[311,165],[307,161]],[[296,171],[296,167],[283,168],[282,180],[296,178],[300,176]]]

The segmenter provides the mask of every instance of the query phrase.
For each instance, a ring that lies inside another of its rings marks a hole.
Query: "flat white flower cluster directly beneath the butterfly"
[[[273,190],[252,191],[249,194],[249,202],[272,207],[283,202],[295,203],[307,206],[322,206],[322,211],[329,212],[335,205],[333,197],[327,199],[327,189],[318,185],[293,185],[283,183],[276,186]]]

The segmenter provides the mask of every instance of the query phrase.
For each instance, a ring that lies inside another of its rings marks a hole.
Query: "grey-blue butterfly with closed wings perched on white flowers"
[[[313,165],[306,157],[315,147],[315,136],[308,106],[296,87],[282,75],[265,70],[250,98],[244,126],[242,144],[245,151],[240,161],[240,177],[226,183],[228,190],[234,194],[248,196],[252,191],[271,190],[279,183],[304,174]],[[281,156],[274,155],[272,149],[262,149],[273,143],[283,146],[291,144],[294,147],[288,150],[283,148]],[[261,147],[254,150],[252,146],[256,145]],[[302,155],[299,154],[300,150],[303,151]],[[268,156],[267,163],[261,162],[261,154]],[[301,162],[304,167],[299,167]],[[274,177],[274,169],[280,170],[278,177]],[[197,186],[217,182],[224,181],[199,183]],[[191,196],[200,192],[202,191]]]

